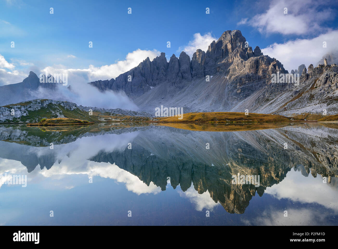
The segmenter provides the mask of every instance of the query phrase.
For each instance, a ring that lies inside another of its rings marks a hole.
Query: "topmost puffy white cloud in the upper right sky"
[[[247,24],[257,28],[261,33],[281,33],[283,35],[308,35],[323,31],[321,24],[333,17],[332,10],[321,6],[325,2],[315,0],[281,0],[271,2],[268,10],[251,19],[242,19],[238,25]],[[287,8],[287,14],[284,14]]]

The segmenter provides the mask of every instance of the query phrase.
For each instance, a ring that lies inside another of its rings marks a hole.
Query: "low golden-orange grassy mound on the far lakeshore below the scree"
[[[178,117],[157,118],[159,122],[288,122],[290,118],[281,115],[244,112],[191,112]]]

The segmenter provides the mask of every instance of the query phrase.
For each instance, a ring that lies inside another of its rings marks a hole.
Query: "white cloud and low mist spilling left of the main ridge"
[[[138,107],[132,103],[124,92],[105,91],[100,92],[88,82],[96,80],[110,80],[116,78],[140,64],[147,57],[152,60],[160,55],[157,50],[141,50],[137,49],[128,53],[124,61],[118,61],[115,64],[94,67],[90,65],[87,69],[68,69],[64,65],[53,65],[45,67],[41,73],[68,75],[68,84],[71,85],[72,91],[68,91],[67,87],[59,87],[57,91],[47,91],[47,89],[39,88],[39,91],[33,92],[34,98],[50,98],[62,101],[71,101],[78,105],[104,108],[121,108],[129,110],[138,110]],[[39,73],[38,73],[39,76]]]

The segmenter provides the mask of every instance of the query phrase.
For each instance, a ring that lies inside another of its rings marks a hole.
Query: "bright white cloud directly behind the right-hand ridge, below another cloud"
[[[296,39],[282,44],[274,43],[264,49],[263,54],[276,58],[289,70],[297,69],[299,65],[310,64],[316,66],[317,62],[326,53],[338,50],[338,30],[331,30],[312,39]],[[323,48],[323,42],[327,47]]]

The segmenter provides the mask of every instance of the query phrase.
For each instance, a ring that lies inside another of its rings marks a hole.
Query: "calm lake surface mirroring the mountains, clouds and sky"
[[[338,225],[337,124],[0,125],[0,140],[1,225]]]

